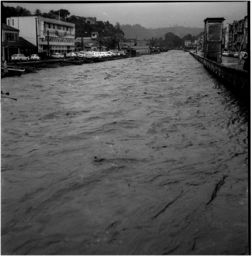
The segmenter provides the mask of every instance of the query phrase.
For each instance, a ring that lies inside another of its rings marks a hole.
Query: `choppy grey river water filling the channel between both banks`
[[[2,79],[2,254],[248,254],[247,109],[189,53]]]

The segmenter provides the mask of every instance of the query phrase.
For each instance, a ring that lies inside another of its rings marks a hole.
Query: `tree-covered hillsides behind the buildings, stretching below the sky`
[[[163,47],[170,49],[173,47],[183,47],[184,41],[194,41],[197,36],[202,34],[204,28],[191,28],[174,26],[167,28],[147,29],[139,24],[135,25],[120,25],[119,22],[113,26],[109,21],[96,21],[95,24],[86,23],[83,17],[71,15],[68,10],[60,9],[57,11],[51,10],[48,13],[42,13],[39,9],[31,13],[29,10],[17,6],[9,7],[2,5],[3,23],[6,22],[7,17],[11,16],[37,16],[40,15],[45,18],[60,19],[75,24],[75,37],[91,37],[93,31],[99,32],[100,44],[106,46],[108,49],[119,48],[119,41],[126,42],[127,39],[146,39],[150,42],[150,46]]]

